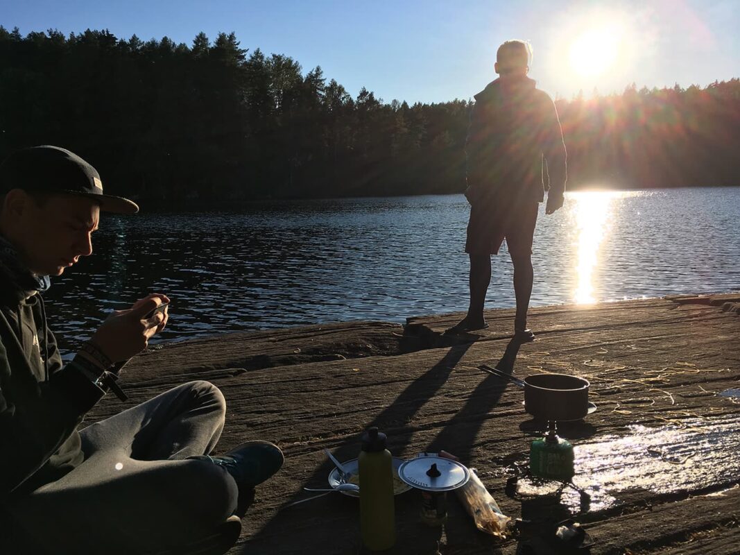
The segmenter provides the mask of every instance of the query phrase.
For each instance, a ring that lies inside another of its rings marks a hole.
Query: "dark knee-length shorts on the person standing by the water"
[[[537,202],[498,210],[491,209],[485,203],[471,206],[465,252],[471,255],[497,255],[506,239],[512,256],[531,255],[537,212]]]

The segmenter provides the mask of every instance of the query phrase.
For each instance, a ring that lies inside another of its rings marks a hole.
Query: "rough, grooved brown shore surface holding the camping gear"
[[[282,507],[309,497],[304,486],[326,485],[332,466],[323,448],[340,460],[357,457],[370,425],[388,434],[398,457],[456,454],[478,469],[505,514],[531,522],[528,533],[497,542],[452,496],[445,528],[427,528],[418,522],[420,496],[409,491],[396,498],[398,539],[389,553],[554,553],[540,535],[569,516],[591,534],[586,553],[738,552],[739,444],[701,438],[713,429],[729,431],[712,437],[730,438],[740,428],[740,400],[718,395],[740,388],[740,294],[540,307],[530,314],[537,339],[522,345],[511,338],[513,310],[488,311],[484,331],[442,334],[461,317],[169,343],[132,360],[121,383],[135,404],[184,381],[209,380],[229,407],[220,451],[246,439],[283,449],[286,463],[258,488],[231,555],[362,553],[357,499],[330,494]],[[591,380],[598,410],[561,431],[576,445],[576,484],[582,480],[592,508],[507,493],[542,425],[523,411],[522,391],[477,369],[481,363],[519,377],[545,371]],[[125,406],[109,396],[88,421]],[[649,445],[659,434],[678,437],[671,443],[683,441],[690,454]],[[624,437],[637,439],[618,441]]]

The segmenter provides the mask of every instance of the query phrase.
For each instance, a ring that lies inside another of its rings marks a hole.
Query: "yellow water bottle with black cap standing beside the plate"
[[[370,551],[390,549],[396,542],[393,457],[386,449],[386,434],[375,427],[363,434],[359,466],[363,545]]]

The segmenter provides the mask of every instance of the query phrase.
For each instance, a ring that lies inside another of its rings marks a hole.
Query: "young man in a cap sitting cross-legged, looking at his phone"
[[[104,195],[98,172],[57,147],[10,155],[0,201],[0,552],[186,553],[225,534],[235,542],[239,496],[275,474],[283,454],[252,441],[210,455],[226,411],[218,388],[185,383],[78,429],[109,389],[124,397],[116,363],[164,328],[166,308],[155,309],[166,295],[114,312],[66,366],[47,326],[39,293],[49,276],[92,253],[101,211],[138,206]]]

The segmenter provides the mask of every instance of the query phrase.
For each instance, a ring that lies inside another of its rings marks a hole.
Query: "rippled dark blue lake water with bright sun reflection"
[[[159,340],[468,306],[462,195],[290,201],[104,216],[95,252],[44,295],[63,351],[111,309],[172,298]],[[532,306],[740,289],[740,188],[573,192],[540,206]],[[494,258],[486,306],[514,306]]]

